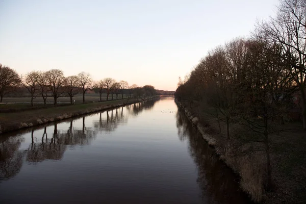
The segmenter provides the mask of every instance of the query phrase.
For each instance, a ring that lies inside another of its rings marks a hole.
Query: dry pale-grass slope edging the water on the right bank
[[[212,126],[209,123],[203,124],[188,106],[177,101],[177,99],[175,99],[175,103],[184,110],[189,120],[197,127],[208,144],[215,148],[220,159],[234,172],[239,174],[242,190],[250,195],[253,201],[262,201],[264,196],[264,188],[262,185],[263,173],[259,172],[259,169],[263,169],[262,163],[255,161],[255,157],[250,157],[250,155],[235,155],[234,152],[237,150],[234,147],[235,142],[224,142],[220,138],[220,135],[215,134],[216,131],[212,129]],[[258,158],[261,158],[261,156]]]

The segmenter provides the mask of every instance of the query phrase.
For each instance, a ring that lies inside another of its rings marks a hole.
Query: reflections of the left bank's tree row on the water
[[[75,145],[90,144],[98,132],[115,131],[119,124],[127,123],[129,117],[135,117],[143,110],[149,110],[154,107],[158,100],[145,100],[125,107],[99,112],[99,119],[93,121],[93,127],[86,126],[86,117],[97,113],[2,135],[0,137],[0,182],[8,180],[19,173],[23,158],[29,163],[37,163],[44,160],[61,160],[67,146],[73,148]],[[125,113],[124,110],[126,111]],[[102,117],[103,115],[106,115],[106,117]],[[79,128],[74,127],[73,122],[81,118],[82,126]],[[58,130],[58,125],[63,123],[68,124],[66,130]],[[52,134],[47,133],[47,129],[50,128],[52,128]],[[21,135],[29,132],[31,132],[31,143],[28,149],[20,150],[20,144],[24,142],[24,138]]]

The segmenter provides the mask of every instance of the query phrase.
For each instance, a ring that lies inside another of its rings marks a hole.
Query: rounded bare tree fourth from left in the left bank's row
[[[64,93],[63,84],[65,81],[64,72],[59,69],[51,69],[45,73],[46,83],[52,92],[54,105],[57,106],[57,99]]]

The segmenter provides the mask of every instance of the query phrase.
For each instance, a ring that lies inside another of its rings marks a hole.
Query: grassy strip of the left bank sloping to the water
[[[156,96],[157,97],[157,96]],[[71,117],[103,111],[115,107],[138,103],[156,97],[139,99],[111,100],[89,104],[60,106],[15,113],[0,113],[0,134],[24,129],[48,122],[64,120]]]

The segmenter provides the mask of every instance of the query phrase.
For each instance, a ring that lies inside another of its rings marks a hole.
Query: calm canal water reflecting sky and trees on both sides
[[[0,137],[0,203],[248,203],[173,98]]]

